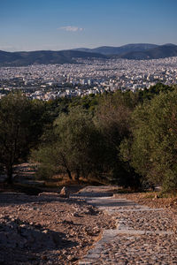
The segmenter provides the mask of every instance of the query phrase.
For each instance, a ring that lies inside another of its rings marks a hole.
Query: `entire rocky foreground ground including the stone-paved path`
[[[113,193],[0,191],[0,264],[177,264],[175,199]]]

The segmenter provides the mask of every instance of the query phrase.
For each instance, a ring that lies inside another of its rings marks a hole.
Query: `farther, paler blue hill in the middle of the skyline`
[[[110,46],[102,46],[95,49],[88,49],[88,48],[79,48],[73,49],[78,51],[86,51],[86,52],[96,52],[101,53],[104,55],[120,55],[127,52],[133,51],[144,51],[146,49],[153,49],[158,47],[156,44],[149,44],[149,43],[137,43],[137,44],[127,44],[120,47],[110,47]]]

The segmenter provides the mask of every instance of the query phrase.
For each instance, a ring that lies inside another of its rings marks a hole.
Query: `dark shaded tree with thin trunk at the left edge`
[[[29,149],[42,133],[41,115],[42,105],[30,102],[20,93],[7,95],[0,101],[0,159],[9,183],[14,163],[27,158]]]

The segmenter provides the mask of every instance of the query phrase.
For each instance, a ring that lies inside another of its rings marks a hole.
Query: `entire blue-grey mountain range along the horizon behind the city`
[[[36,50],[7,52],[0,50],[0,66],[25,66],[30,64],[74,64],[75,58],[125,58],[158,59],[177,57],[177,45],[168,43],[156,45],[149,43],[127,44],[120,47],[103,46],[96,49]]]

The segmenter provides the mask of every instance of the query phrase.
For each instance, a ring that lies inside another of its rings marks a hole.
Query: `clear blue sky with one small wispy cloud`
[[[0,0],[0,49],[177,44],[177,0]]]

